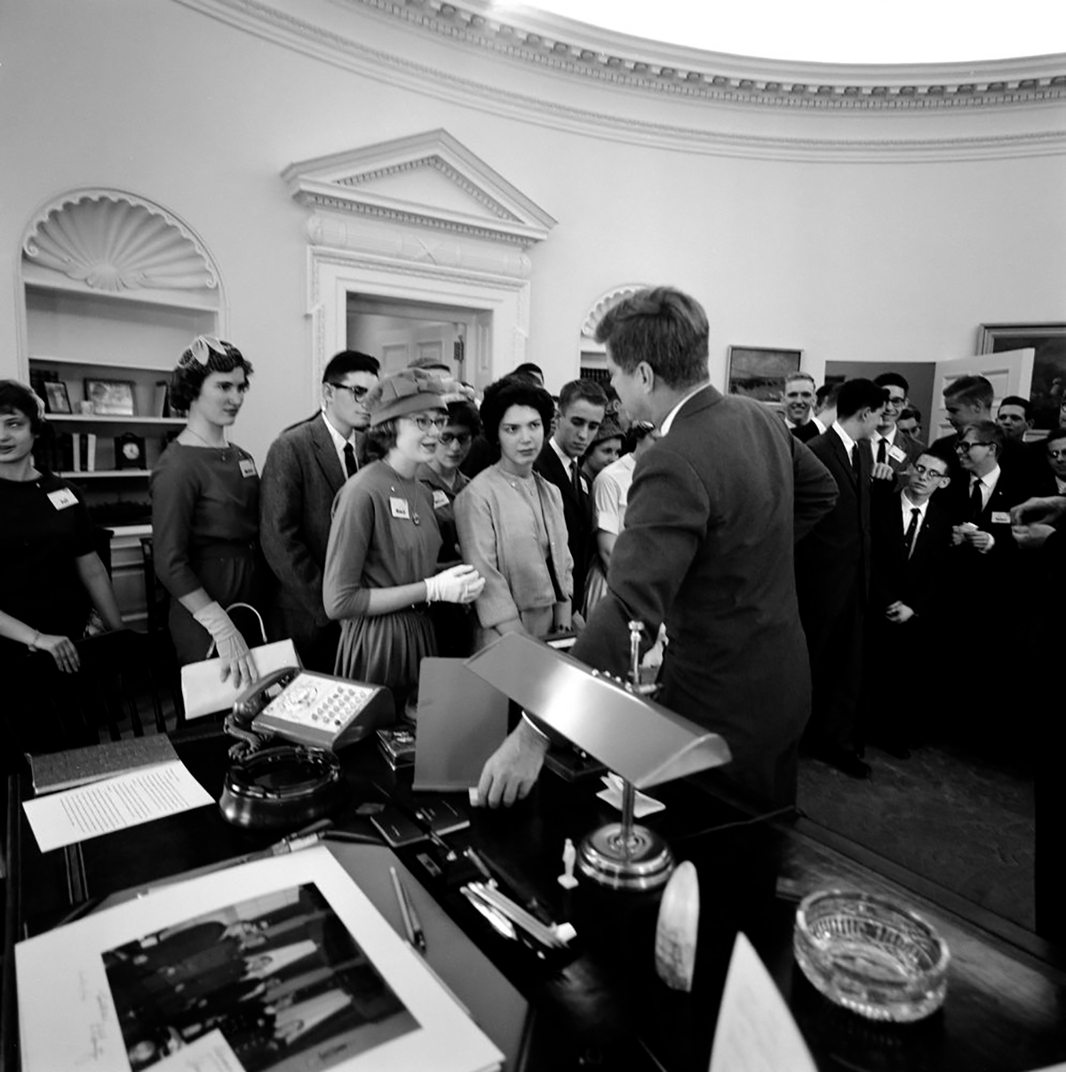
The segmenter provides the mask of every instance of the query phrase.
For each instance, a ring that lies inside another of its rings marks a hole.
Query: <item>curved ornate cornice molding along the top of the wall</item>
[[[722,123],[722,126],[730,128],[727,130],[649,121],[626,115],[621,107],[617,113],[592,110],[547,100],[544,96],[517,92],[498,83],[490,85],[466,77],[456,73],[456,66],[462,69],[462,65],[453,62],[455,51],[451,48],[447,51],[441,49],[440,62],[434,65],[418,62],[384,48],[371,47],[365,44],[365,32],[360,33],[360,27],[355,24],[359,16],[370,16],[382,25],[408,28],[408,32],[417,36],[437,34],[447,38],[460,50],[464,47],[484,49],[495,54],[505,62],[512,61],[527,69],[530,63],[536,63],[549,73],[569,76],[572,73],[571,68],[581,72],[585,72],[586,68],[587,71],[595,69],[599,72],[595,75],[596,79],[612,83],[620,90],[632,92],[647,88],[650,93],[658,94],[658,99],[663,103],[670,99],[689,104],[702,101],[706,103],[708,115],[712,119],[717,109],[739,109],[760,115],[769,113],[781,115],[791,110],[797,118],[800,115],[812,117],[822,115],[828,118],[830,115],[843,117],[857,114],[873,118],[907,113],[944,116],[947,109],[955,109],[955,114],[959,115],[964,110],[971,114],[974,109],[1003,111],[1006,108],[1023,106],[1041,110],[1048,105],[1061,106],[1066,101],[1066,74],[1052,73],[1066,70],[1066,56],[1017,60],[1009,63],[1004,61],[913,68],[842,69],[830,65],[782,63],[777,69],[781,72],[787,70],[797,73],[802,68],[808,80],[796,83],[784,79],[783,74],[781,79],[784,80],[771,76],[772,65],[767,60],[747,61],[739,57],[688,50],[693,56],[721,59],[722,63],[726,64],[721,70],[727,70],[729,73],[714,74],[708,70],[707,73],[700,74],[699,78],[689,78],[686,73],[682,77],[672,77],[664,81],[652,77],[648,72],[637,70],[639,64],[645,61],[607,57],[612,62],[592,64],[591,61],[581,60],[580,55],[574,59],[569,51],[564,54],[562,49],[556,49],[554,44],[545,46],[544,42],[550,40],[547,38],[542,38],[539,43],[530,43],[525,40],[520,41],[516,35],[511,34],[514,40],[505,47],[501,42],[508,34],[502,25],[500,24],[498,30],[494,29],[491,20],[478,15],[469,4],[461,10],[455,4],[445,4],[439,0],[410,0],[409,3],[404,0],[329,0],[334,9],[344,9],[352,15],[351,33],[344,34],[281,11],[266,0],[177,0],[177,2],[284,47],[379,81],[451,100],[494,115],[631,145],[722,157],[847,163],[984,160],[1048,155],[1066,151],[1066,129],[944,137],[939,133],[943,126],[937,124],[937,134],[929,137],[797,137],[737,133],[735,119]],[[452,9],[453,13],[449,14],[447,9]],[[478,18],[482,21],[478,23]],[[543,16],[544,20],[547,18]],[[651,43],[648,45],[661,47]],[[614,63],[614,59],[618,62]],[[847,83],[834,84],[817,81],[811,77],[815,71],[824,73],[830,70],[866,72],[867,80],[861,83],[856,77]],[[911,77],[906,84],[892,85],[887,77],[887,73],[892,71],[905,72],[909,77],[924,71],[930,77],[943,76],[944,80],[921,81],[917,77]],[[982,78],[986,75],[988,77],[987,80],[958,80],[962,71],[969,72],[975,78],[978,71]],[[1008,76],[1011,72],[1012,76]],[[947,79],[947,75],[952,73],[956,76],[955,81]],[[870,80],[871,74],[875,75],[873,81]],[[993,78],[993,74],[997,77]],[[747,85],[748,81],[751,83],[750,86]],[[997,88],[1001,84],[1002,88]],[[806,86],[807,89],[799,91],[797,88],[799,85]],[[829,86],[831,91],[822,92],[823,86]],[[667,90],[665,95],[664,87]],[[629,93],[620,93],[619,102],[624,96],[628,98]],[[665,109],[663,114],[666,114]],[[879,129],[887,130],[884,126]],[[872,125],[864,126],[866,135],[873,131]]]

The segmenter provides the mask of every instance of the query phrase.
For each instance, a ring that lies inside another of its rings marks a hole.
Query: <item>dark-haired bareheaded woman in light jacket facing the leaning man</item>
[[[571,626],[562,497],[534,472],[553,412],[552,397],[527,379],[505,376],[485,389],[481,421],[500,459],[455,500],[463,561],[485,581],[475,602],[478,647],[505,632],[543,638]]]

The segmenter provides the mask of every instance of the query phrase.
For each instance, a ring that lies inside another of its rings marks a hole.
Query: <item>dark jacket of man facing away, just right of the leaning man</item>
[[[832,475],[839,494],[834,508],[796,545],[796,587],[805,621],[835,616],[856,586],[865,602],[870,587],[872,455],[858,445],[856,479],[844,444],[831,428],[812,440],[810,449]]]

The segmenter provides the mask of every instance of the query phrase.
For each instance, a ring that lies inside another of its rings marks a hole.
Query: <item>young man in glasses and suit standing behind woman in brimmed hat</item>
[[[273,574],[272,639],[291,637],[309,670],[333,672],[340,624],[322,607],[330,512],[342,485],[364,460],[363,405],[378,362],[342,351],[322,374],[322,408],[271,444],[259,492],[259,542]]]

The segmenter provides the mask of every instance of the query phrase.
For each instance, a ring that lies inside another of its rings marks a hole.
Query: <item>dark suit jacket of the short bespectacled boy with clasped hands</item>
[[[870,609],[881,619],[885,608],[899,600],[925,620],[937,608],[947,580],[951,517],[930,498],[909,556],[902,509],[899,492],[873,496]]]

